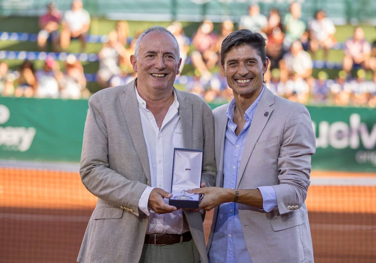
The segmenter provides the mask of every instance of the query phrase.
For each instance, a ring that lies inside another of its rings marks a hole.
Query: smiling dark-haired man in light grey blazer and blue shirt
[[[315,135],[306,107],[263,84],[265,39],[242,29],[221,46],[221,70],[234,99],[213,111],[217,187],[200,208],[215,207],[209,262],[312,263],[305,205]],[[223,188],[220,188],[223,187]]]

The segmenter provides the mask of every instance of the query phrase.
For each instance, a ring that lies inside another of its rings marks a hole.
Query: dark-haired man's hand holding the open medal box
[[[220,204],[231,202],[233,200],[233,189],[220,187],[203,187],[188,191],[190,193],[202,193],[204,197],[200,201],[199,209],[206,211],[212,210]]]

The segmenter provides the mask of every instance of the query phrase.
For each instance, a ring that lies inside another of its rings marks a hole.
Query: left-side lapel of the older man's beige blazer
[[[120,103],[121,108],[123,109],[127,127],[129,129],[130,138],[132,139],[133,145],[136,148],[136,152],[145,171],[146,178],[151,181],[146,142],[144,139],[144,132],[142,130],[141,118],[138,110],[135,81],[136,79],[124,86],[123,92],[120,93]]]

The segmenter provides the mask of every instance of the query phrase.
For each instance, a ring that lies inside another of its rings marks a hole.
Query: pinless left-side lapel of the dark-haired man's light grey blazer
[[[221,112],[218,112],[217,118],[218,124],[216,128],[216,136],[215,136],[215,146],[217,147],[216,151],[216,157],[215,160],[217,162],[217,179],[215,185],[218,187],[223,187],[223,156],[224,156],[224,140],[226,137],[226,128],[227,128],[227,122],[228,118],[226,115],[227,107],[229,104],[226,104],[226,106],[223,106],[221,109]]]

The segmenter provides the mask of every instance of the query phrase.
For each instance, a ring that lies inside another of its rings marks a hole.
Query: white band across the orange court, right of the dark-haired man
[[[376,177],[311,177],[311,185],[334,186],[376,186]]]

